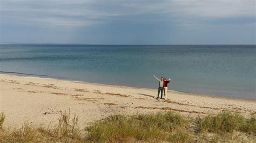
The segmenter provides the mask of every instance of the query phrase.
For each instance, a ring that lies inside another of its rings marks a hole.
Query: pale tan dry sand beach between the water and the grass
[[[171,89],[171,88],[169,88]],[[169,100],[157,99],[157,89],[57,80],[32,76],[0,74],[0,112],[4,126],[56,124],[60,110],[76,113],[78,124],[86,126],[114,114],[134,115],[175,111],[195,118],[222,110],[245,116],[256,113],[256,101],[198,95],[169,90]]]

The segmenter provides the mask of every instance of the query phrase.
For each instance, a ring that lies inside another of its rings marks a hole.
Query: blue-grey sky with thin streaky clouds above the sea
[[[0,43],[255,44],[255,0],[0,0]]]

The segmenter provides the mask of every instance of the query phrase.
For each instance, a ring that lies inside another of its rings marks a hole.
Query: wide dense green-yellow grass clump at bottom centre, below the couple
[[[186,120],[178,113],[158,112],[148,115],[136,116],[111,116],[98,121],[86,128],[90,141],[125,141],[134,140],[157,140],[171,141],[172,139],[186,140],[188,135],[177,131],[185,130]]]

